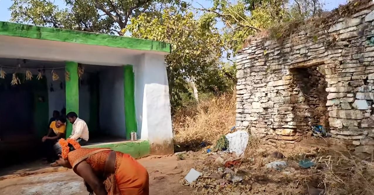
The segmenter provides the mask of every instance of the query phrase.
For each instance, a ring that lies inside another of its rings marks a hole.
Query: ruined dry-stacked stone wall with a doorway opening
[[[236,128],[292,148],[321,124],[348,145],[374,145],[373,10],[282,44],[248,41],[236,58]]]

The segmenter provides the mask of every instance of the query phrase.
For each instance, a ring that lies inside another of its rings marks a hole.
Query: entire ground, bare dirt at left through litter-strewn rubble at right
[[[332,139],[304,140],[288,151],[254,143],[250,146],[244,158],[223,152],[206,153],[202,149],[139,161],[150,174],[150,194],[318,195],[325,191],[326,194],[374,194],[371,188],[374,165],[367,148],[356,150],[355,154]],[[315,165],[300,167],[299,161],[305,159],[312,160]],[[274,161],[286,165],[268,168]],[[202,176],[188,183],[184,177],[191,168]],[[83,195],[87,192],[82,179],[67,170],[0,180],[2,194]]]

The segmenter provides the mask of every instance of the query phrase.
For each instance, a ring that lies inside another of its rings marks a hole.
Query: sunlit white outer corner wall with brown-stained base
[[[135,67],[135,105],[141,139],[153,154],[174,151],[169,85],[164,56],[145,54]]]

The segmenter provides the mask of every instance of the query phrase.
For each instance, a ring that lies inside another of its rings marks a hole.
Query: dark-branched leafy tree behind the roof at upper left
[[[169,0],[13,0],[11,21],[34,25],[123,35],[132,17],[153,14]],[[177,3],[179,1],[176,1]]]

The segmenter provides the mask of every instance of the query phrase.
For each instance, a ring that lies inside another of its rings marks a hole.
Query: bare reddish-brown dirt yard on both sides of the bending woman
[[[193,161],[178,161],[175,156],[142,158],[139,162],[150,175],[150,194],[190,195],[193,188],[181,186],[184,167]],[[0,195],[87,195],[83,180],[72,170],[34,174],[0,181]]]

